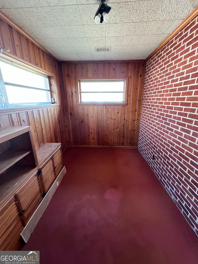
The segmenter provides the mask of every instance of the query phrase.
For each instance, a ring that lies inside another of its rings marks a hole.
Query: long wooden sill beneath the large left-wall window
[[[58,107],[59,104],[46,104],[46,105],[37,105],[37,106],[18,106],[18,107],[1,107],[0,108],[0,115],[4,114],[12,114],[24,111],[31,111],[36,109],[43,109],[43,108],[51,108],[51,107]]]

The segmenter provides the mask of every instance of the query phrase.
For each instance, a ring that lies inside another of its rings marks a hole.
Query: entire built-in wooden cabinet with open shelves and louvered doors
[[[0,128],[0,250],[20,234],[63,168],[60,143],[35,150],[30,127]]]

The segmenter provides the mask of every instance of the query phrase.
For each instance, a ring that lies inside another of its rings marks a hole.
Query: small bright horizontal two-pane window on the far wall
[[[125,80],[79,80],[80,103],[124,103]]]

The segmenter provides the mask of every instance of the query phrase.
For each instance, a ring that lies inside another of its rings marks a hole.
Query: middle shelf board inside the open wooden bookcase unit
[[[28,149],[9,149],[0,155],[0,174],[14,165],[20,159],[28,155],[31,150]]]

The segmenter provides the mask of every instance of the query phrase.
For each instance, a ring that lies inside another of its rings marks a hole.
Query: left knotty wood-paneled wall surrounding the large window
[[[10,21],[10,22],[9,22]],[[59,62],[49,52],[36,45],[13,21],[0,12],[0,47],[10,49],[9,54],[3,51],[3,58],[14,58],[28,66],[42,69],[55,76],[53,91],[57,91],[59,105],[49,108],[6,111],[0,109],[0,125],[31,125],[36,148],[45,142],[60,142],[62,149],[67,147],[67,113],[62,101]],[[64,90],[64,89],[63,89]]]

